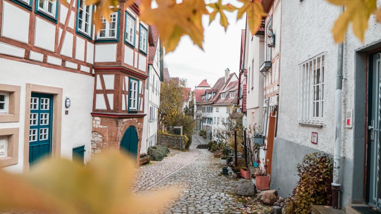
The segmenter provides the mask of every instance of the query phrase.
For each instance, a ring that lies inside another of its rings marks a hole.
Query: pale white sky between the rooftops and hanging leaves
[[[241,6],[237,1],[229,0],[229,3]],[[226,68],[238,76],[241,30],[245,29],[245,16],[238,21],[237,12],[227,12],[226,16],[229,21],[226,33],[219,24],[219,14],[210,25],[209,17],[203,17],[204,51],[194,45],[188,36],[183,36],[176,50],[165,55],[170,77],[186,78],[188,87],[193,90],[203,79],[213,86],[218,78],[224,77]]]

